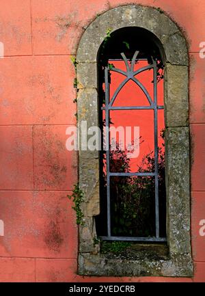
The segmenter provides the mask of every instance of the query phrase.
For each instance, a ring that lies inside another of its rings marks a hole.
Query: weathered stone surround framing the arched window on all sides
[[[98,126],[97,57],[107,29],[142,27],[163,46],[165,62],[165,143],[167,191],[167,260],[120,260],[100,254],[94,216],[100,213],[98,151],[79,151],[79,186],[85,224],[79,227],[81,275],[193,275],[190,239],[189,57],[182,32],[164,13],[141,5],[124,5],[98,16],[85,29],[77,50],[78,124]]]

